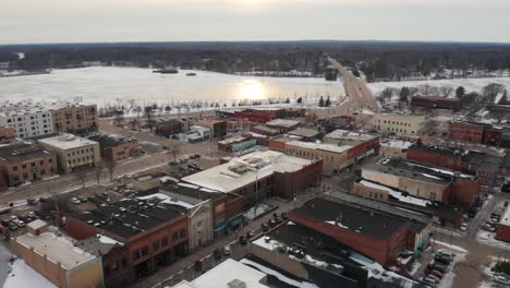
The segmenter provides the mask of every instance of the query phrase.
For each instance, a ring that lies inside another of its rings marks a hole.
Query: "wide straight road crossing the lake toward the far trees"
[[[349,101],[345,105],[348,105],[350,109],[362,110],[363,108],[369,108],[374,111],[379,109],[374,94],[363,81],[354,76],[337,60],[329,58],[329,62],[333,68],[338,69],[342,75],[345,94],[349,96]]]

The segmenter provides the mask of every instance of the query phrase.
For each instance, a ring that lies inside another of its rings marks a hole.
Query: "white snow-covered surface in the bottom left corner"
[[[3,288],[57,288],[57,286],[54,286],[51,281],[46,279],[31,266],[26,265],[23,260],[19,259],[14,261],[11,268],[12,271],[3,284]]]

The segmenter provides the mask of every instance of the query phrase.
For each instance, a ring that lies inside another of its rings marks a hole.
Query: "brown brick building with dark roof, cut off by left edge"
[[[35,144],[0,147],[0,168],[9,185],[34,181],[57,173],[57,157]]]

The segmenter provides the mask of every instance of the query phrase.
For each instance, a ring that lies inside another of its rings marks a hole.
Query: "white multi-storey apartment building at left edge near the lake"
[[[34,137],[53,133],[51,110],[42,107],[0,107],[0,127],[12,127],[17,137]]]

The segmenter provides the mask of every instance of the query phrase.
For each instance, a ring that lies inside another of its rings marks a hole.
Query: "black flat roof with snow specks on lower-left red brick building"
[[[123,199],[117,203],[86,211],[76,218],[127,239],[186,213],[187,209],[180,205],[155,200]]]

